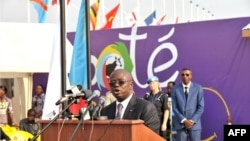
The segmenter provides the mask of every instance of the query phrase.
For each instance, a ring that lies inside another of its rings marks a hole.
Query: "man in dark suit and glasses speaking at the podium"
[[[157,109],[152,103],[134,94],[131,74],[123,69],[115,70],[110,75],[109,84],[116,101],[103,108],[101,115],[108,119],[141,119],[147,127],[159,134],[160,119]],[[118,105],[122,105],[119,106],[122,107],[121,110]]]

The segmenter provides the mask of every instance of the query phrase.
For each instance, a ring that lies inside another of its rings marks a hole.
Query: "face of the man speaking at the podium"
[[[123,71],[116,71],[112,73],[109,84],[112,94],[118,101],[123,101],[133,91],[132,80]]]

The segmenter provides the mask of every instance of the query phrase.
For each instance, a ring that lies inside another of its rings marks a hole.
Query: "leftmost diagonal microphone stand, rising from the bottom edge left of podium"
[[[57,118],[60,114],[65,112],[72,104],[76,102],[76,98],[72,100],[70,104],[68,104],[60,113],[58,113],[40,132],[38,132],[32,139],[29,139],[29,141],[35,141]]]

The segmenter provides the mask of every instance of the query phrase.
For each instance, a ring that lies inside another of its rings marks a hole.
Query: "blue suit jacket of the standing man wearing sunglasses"
[[[176,85],[172,90],[172,108],[176,120],[173,124],[176,129],[184,128],[181,120],[184,118],[191,119],[195,122],[191,130],[201,129],[201,115],[204,111],[204,94],[202,86],[191,83],[188,99],[186,101],[182,84]]]

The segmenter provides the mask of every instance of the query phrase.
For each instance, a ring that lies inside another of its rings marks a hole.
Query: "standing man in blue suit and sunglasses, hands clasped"
[[[177,131],[177,141],[201,140],[201,115],[204,111],[204,94],[202,86],[193,83],[192,71],[182,69],[182,83],[175,85],[172,96],[173,120]]]

